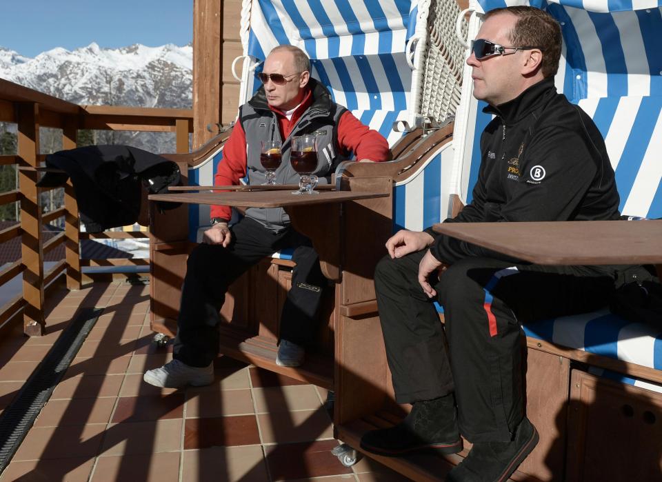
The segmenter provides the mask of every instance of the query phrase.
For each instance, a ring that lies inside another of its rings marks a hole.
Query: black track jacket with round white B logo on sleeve
[[[556,93],[554,79],[483,112],[496,117],[481,137],[473,200],[444,222],[619,219],[619,193],[602,135],[588,114]],[[435,237],[432,255],[445,263],[465,257],[511,259],[426,232]]]

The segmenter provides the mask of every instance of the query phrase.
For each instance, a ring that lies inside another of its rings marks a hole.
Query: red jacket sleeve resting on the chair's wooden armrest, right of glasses
[[[376,130],[363,125],[349,110],[340,118],[338,123],[338,142],[341,148],[351,150],[361,159],[382,162],[390,159],[388,142]]]

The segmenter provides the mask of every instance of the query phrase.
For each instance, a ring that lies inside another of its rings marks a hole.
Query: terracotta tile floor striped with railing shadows
[[[172,359],[149,328],[149,286],[95,283],[48,298],[46,334],[0,342],[0,410],[80,307],[104,311],[0,481],[404,481],[374,461],[341,465],[326,390],[220,357],[212,385],[158,389]]]

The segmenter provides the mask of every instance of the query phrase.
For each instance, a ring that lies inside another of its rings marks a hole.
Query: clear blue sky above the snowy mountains
[[[26,57],[97,42],[179,46],[193,40],[193,0],[0,0],[0,46]]]

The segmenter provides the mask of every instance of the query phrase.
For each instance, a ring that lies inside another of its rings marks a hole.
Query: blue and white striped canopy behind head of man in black
[[[556,86],[569,99],[662,94],[662,0],[479,1],[546,9],[561,23]]]

